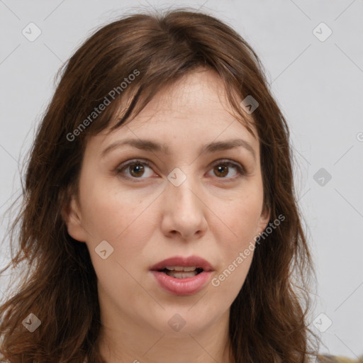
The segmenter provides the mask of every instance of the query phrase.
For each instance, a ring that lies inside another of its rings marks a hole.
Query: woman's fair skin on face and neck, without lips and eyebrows
[[[233,362],[230,306],[253,253],[219,286],[209,281],[191,296],[162,290],[150,272],[167,257],[199,255],[213,265],[211,278],[218,277],[266,227],[257,134],[231,113],[218,75],[198,69],[155,94],[130,123],[86,145],[79,196],[72,198],[66,223],[69,235],[86,243],[96,271],[99,347],[108,363]],[[166,143],[170,151],[124,146],[101,157],[125,138]],[[202,145],[233,138],[250,143],[256,160],[243,147],[200,152]],[[135,158],[149,160],[150,167],[117,174],[121,163]],[[225,159],[242,164],[246,174],[213,165]],[[186,175],[180,186],[167,179],[176,167]],[[113,247],[106,259],[95,252],[102,240]],[[179,332],[168,324],[176,313],[186,322]]]

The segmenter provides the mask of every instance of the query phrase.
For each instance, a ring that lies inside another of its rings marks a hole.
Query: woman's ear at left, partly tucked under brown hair
[[[62,211],[62,217],[67,225],[68,234],[79,242],[86,242],[86,230],[82,227],[82,214],[75,196],[71,196],[69,202]]]

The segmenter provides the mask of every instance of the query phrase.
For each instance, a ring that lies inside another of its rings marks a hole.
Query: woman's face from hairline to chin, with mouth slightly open
[[[67,227],[89,249],[105,325],[172,335],[228,319],[269,216],[259,143],[228,112],[223,90],[214,72],[190,73],[87,143]],[[240,145],[219,144],[231,140]],[[165,265],[203,272],[152,271],[170,257],[181,260]]]

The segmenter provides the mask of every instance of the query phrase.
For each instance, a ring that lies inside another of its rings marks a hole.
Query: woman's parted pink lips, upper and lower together
[[[160,272],[160,270],[164,269],[167,266],[195,266],[197,268],[202,268],[203,272],[197,274],[194,277],[177,279],[175,277],[164,274],[164,272]],[[206,261],[206,259],[198,256],[171,257],[168,259],[164,259],[151,267],[151,272],[157,280],[158,284],[162,287],[162,289],[174,295],[196,294],[203,288],[203,286],[206,285],[211,277],[212,271],[212,265],[208,261]]]

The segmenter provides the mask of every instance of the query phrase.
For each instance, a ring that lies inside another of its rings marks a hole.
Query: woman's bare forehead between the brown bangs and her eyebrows
[[[99,141],[104,147],[130,137],[147,138],[171,144],[173,151],[172,145],[180,150],[196,143],[243,138],[257,151],[257,133],[253,131],[254,136],[236,119],[220,76],[211,69],[196,69],[162,88],[135,118]]]

